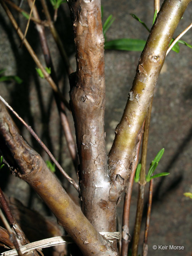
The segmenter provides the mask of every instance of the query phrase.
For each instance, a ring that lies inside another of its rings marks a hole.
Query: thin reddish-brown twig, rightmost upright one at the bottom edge
[[[153,191],[153,179],[150,180],[150,183],[149,183],[148,210],[147,210],[147,219],[146,219],[146,225],[145,225],[142,256],[147,256],[147,253],[148,253],[148,230],[149,230],[149,222],[150,222],[151,209],[152,209],[152,191]]]

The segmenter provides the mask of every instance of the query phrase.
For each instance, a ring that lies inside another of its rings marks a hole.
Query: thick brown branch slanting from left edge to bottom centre
[[[4,106],[0,103],[0,133],[16,166],[16,176],[25,180],[44,200],[84,255],[117,256],[110,243],[90,224],[72,201],[40,155],[18,134]]]

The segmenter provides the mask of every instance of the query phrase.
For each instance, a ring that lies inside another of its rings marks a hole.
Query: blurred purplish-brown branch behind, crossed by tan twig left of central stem
[[[32,8],[32,0],[28,0],[28,4]],[[35,18],[39,19],[39,13],[37,11],[36,6],[34,6],[34,8],[33,8],[33,16]],[[38,31],[39,36],[40,36],[40,44],[41,44],[41,48],[42,48],[42,51],[43,51],[43,54],[44,54],[44,59],[45,59],[45,62],[46,62],[46,66],[48,68],[51,68],[52,80],[55,82],[56,86],[58,87],[56,73],[55,73],[55,69],[53,67],[51,54],[50,54],[50,51],[49,51],[49,48],[48,48],[48,43],[47,43],[47,39],[46,39],[46,36],[45,36],[44,27],[36,24],[36,28],[37,28],[37,31]],[[56,105],[57,105],[57,109],[58,109],[58,112],[59,112],[59,115],[60,115],[61,125],[62,125],[64,135],[65,135],[65,138],[66,138],[66,141],[67,141],[68,149],[69,149],[70,155],[72,157],[74,167],[75,167],[76,172],[77,172],[77,167],[78,167],[78,164],[79,164],[79,160],[78,160],[77,151],[76,151],[76,144],[75,144],[75,141],[74,141],[73,136],[72,136],[72,131],[71,131],[71,128],[70,128],[70,125],[69,125],[67,113],[66,113],[64,104],[61,102],[60,98],[58,97],[58,95],[54,91],[53,91],[53,95],[54,95],[54,98],[56,100]]]

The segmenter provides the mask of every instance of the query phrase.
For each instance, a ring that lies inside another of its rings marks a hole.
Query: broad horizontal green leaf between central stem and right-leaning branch
[[[142,52],[146,44],[145,40],[121,38],[111,41],[106,41],[104,48],[106,50],[120,50],[120,51],[138,51]]]

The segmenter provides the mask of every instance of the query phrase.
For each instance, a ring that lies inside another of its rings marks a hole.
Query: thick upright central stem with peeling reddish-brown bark
[[[68,1],[76,44],[70,103],[80,156],[82,210],[99,232],[116,231],[104,135],[104,36],[100,0]]]

